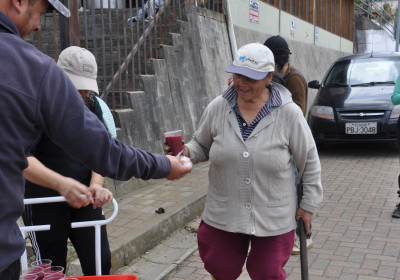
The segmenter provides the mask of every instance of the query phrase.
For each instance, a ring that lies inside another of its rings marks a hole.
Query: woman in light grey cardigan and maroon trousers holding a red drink
[[[207,106],[184,145],[193,163],[211,162],[197,239],[213,279],[237,279],[245,264],[251,279],[286,279],[296,219],[309,225],[322,202],[315,142],[290,92],[271,83],[274,68],[266,46],[238,49],[226,67],[233,84]],[[299,209],[292,158],[303,177]]]

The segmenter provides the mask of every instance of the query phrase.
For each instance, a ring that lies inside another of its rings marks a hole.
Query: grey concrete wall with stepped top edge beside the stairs
[[[186,14],[187,21],[180,21],[179,32],[172,34],[173,44],[162,46],[164,58],[152,61],[155,75],[141,76],[144,91],[128,93],[132,108],[116,112],[119,139],[129,145],[162,153],[163,132],[175,129],[183,129],[188,141],[207,104],[227,87],[230,75],[225,67],[232,57],[224,16],[194,6],[186,6]],[[238,47],[276,35],[238,25],[234,32]],[[293,53],[291,63],[307,81],[321,80],[337,58],[349,54],[307,40],[286,39]],[[315,94],[309,89],[308,108]],[[148,182],[107,180],[117,196],[143,184]]]

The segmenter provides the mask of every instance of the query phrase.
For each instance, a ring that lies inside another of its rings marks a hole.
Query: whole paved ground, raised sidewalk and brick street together
[[[399,201],[397,147],[331,145],[320,158],[324,200],[313,220],[310,279],[400,279],[400,219],[391,217]],[[115,274],[210,280],[195,236],[207,171],[207,163],[196,165],[182,180],[154,181],[119,201],[120,212],[107,226]],[[159,207],[164,214],[155,213]],[[292,256],[285,270],[287,279],[301,279],[299,256]],[[239,278],[249,279],[246,271]]]

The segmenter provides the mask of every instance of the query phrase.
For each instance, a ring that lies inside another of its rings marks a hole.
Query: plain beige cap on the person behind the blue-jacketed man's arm
[[[99,94],[97,63],[90,51],[76,46],[68,47],[60,53],[57,64],[78,90],[91,90]]]

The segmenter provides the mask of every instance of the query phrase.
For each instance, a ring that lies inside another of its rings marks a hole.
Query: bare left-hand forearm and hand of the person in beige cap
[[[33,156],[28,157],[28,163],[24,170],[25,179],[28,181],[59,192],[74,208],[93,203],[92,194],[87,186],[54,172]],[[86,195],[86,198],[82,197],[82,194]]]

